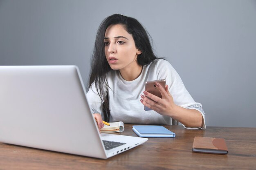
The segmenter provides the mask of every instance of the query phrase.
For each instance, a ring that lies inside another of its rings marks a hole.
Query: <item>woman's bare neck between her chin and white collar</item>
[[[121,76],[126,80],[126,81],[132,81],[135,80],[139,77],[142,71],[142,66],[137,65],[132,68],[123,68],[120,71]]]

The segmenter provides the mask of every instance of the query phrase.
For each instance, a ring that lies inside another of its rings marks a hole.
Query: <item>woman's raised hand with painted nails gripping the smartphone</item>
[[[165,89],[158,83],[156,83],[156,86],[162,95],[162,99],[149,92],[144,91],[144,95],[141,95],[140,102],[144,104],[144,106],[152,110],[155,110],[157,113],[161,115],[172,116],[173,110],[176,105],[173,102],[173,97],[168,91],[168,85],[165,86]],[[148,99],[148,97],[152,100]]]

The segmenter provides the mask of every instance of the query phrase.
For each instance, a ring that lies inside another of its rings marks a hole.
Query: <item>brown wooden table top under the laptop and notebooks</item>
[[[107,160],[0,143],[0,170],[255,170],[256,128],[207,127],[187,130],[165,126],[175,138],[148,138],[146,143]],[[122,135],[137,136],[131,124]],[[192,152],[195,136],[226,139],[229,153]]]

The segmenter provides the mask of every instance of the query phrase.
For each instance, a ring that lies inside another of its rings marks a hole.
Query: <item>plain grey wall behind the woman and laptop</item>
[[[0,0],[0,65],[75,64],[87,85],[96,31],[113,13],[145,26],[207,126],[256,127],[255,0]]]

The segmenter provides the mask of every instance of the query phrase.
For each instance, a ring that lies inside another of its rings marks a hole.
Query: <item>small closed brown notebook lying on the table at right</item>
[[[225,139],[214,137],[195,137],[192,151],[214,154],[228,153]]]

